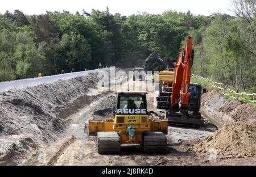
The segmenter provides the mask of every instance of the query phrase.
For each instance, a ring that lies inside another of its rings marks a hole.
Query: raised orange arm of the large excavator
[[[193,38],[188,36],[187,43],[179,55],[175,66],[174,82],[172,83],[171,108],[188,109],[191,66],[193,62]]]

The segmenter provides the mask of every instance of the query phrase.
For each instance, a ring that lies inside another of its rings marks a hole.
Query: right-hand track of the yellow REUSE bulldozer
[[[144,153],[166,153],[167,138],[162,132],[143,132]]]

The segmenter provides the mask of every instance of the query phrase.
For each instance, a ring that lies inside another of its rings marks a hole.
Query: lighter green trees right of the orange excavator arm
[[[195,74],[237,92],[256,92],[256,1],[233,0],[234,16],[215,14],[193,31]]]

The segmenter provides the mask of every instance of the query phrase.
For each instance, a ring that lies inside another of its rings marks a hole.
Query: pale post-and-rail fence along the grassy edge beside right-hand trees
[[[204,78],[204,77],[201,77],[201,76],[195,75],[195,74],[191,74],[191,77],[196,78],[196,79],[204,79],[205,81],[208,81],[209,85],[217,88],[218,90],[221,90],[222,94],[229,95],[233,99],[249,100],[249,102],[251,102],[251,103],[256,103],[256,94],[255,93],[252,93],[252,94],[246,94],[246,92],[237,93],[236,91],[234,91],[232,89],[223,88],[222,83],[213,82],[212,80],[210,80],[208,78]]]

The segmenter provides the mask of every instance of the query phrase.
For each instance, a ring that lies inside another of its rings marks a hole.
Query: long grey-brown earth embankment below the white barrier
[[[67,115],[86,103],[86,93],[96,88],[97,82],[97,73],[89,73],[1,93],[0,165],[16,164],[23,154],[55,141],[67,127]]]

